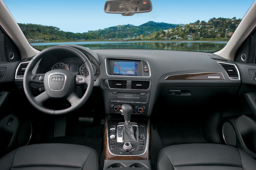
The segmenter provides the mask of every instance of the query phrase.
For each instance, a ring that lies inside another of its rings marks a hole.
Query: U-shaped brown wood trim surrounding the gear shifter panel
[[[105,130],[104,130],[104,160],[150,160],[149,156],[149,140],[150,140],[150,120],[148,120],[148,140],[147,140],[147,150],[144,154],[139,156],[116,156],[112,155],[110,151],[108,150],[107,145],[107,117],[105,120]]]

